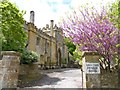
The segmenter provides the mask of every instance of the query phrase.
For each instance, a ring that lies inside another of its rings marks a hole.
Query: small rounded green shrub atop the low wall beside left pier
[[[38,61],[36,52],[25,50],[22,52],[21,64],[32,64]]]

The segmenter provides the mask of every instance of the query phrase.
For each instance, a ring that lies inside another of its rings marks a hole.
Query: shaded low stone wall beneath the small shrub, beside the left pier
[[[39,70],[38,64],[22,64],[19,69],[18,87],[32,80],[41,79],[43,76],[44,75]]]

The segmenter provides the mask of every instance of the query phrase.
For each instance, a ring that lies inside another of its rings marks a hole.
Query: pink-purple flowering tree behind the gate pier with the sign
[[[97,51],[110,67],[118,50],[119,29],[110,21],[106,9],[73,10],[60,26],[65,37],[77,44],[81,51]]]

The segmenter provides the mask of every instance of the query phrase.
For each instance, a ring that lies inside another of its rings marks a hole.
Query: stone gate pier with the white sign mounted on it
[[[86,51],[82,56],[83,88],[100,88],[100,63],[97,52]]]

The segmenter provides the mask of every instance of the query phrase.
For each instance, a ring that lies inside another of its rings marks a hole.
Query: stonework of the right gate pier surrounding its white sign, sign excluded
[[[100,74],[99,73],[87,73],[87,63],[99,64],[99,55],[97,52],[83,52],[83,88],[100,88]],[[99,67],[100,68],[100,67]],[[94,70],[94,69],[93,69]]]

